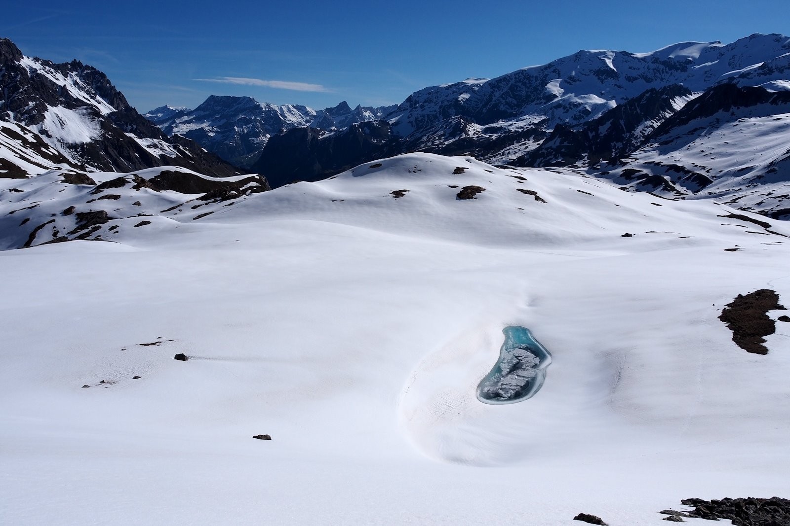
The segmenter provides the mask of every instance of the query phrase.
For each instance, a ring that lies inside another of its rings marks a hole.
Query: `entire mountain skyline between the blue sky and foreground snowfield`
[[[145,118],[81,62],[28,58],[0,39],[0,66],[0,177],[181,166],[212,177],[260,173],[276,188],[427,151],[562,166],[668,199],[710,197],[790,218],[784,35],[579,51],[424,88],[398,106],[312,110],[213,95],[194,110],[162,106]]]

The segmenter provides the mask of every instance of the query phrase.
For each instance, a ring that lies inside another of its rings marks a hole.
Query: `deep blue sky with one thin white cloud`
[[[649,5],[648,5],[649,4]],[[580,49],[790,34],[790,2],[7,2],[24,54],[101,69],[138,110],[208,95],[322,108],[401,103]]]

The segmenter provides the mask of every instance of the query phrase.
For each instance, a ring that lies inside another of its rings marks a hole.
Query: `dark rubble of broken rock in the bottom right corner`
[[[787,498],[723,498],[705,501],[686,498],[680,501],[694,506],[689,517],[708,520],[729,519],[735,526],[786,526],[790,524],[790,499]]]

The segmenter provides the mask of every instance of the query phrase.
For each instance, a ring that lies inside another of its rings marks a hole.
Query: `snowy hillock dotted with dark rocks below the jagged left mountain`
[[[264,192],[257,175],[208,177],[179,166],[135,173],[51,170],[0,190],[0,250],[73,240],[114,240],[126,229],[179,225]]]

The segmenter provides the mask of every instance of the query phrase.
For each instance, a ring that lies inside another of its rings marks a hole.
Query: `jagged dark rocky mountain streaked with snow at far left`
[[[167,165],[238,173],[193,141],[165,136],[99,70],[26,57],[0,39],[0,177]]]

